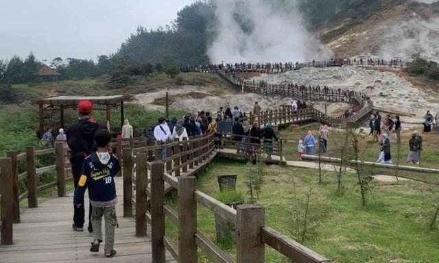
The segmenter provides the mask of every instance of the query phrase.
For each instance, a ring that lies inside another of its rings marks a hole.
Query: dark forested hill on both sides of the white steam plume
[[[283,1],[288,0],[278,0],[278,4],[281,5]],[[324,27],[327,22],[331,22],[331,18],[338,18],[339,24],[344,21],[361,21],[382,8],[405,1],[299,0],[299,6],[304,22],[313,30]],[[167,60],[180,65],[204,64],[209,62],[206,47],[215,36],[214,25],[213,1],[198,1],[180,10],[174,25],[149,30],[139,26],[136,34],[123,42],[115,58],[130,58],[139,63],[152,64]]]

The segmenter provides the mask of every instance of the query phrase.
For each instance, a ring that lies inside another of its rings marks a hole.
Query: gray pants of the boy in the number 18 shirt
[[[105,253],[110,253],[115,245],[115,227],[117,226],[116,207],[95,208],[91,214],[93,239],[102,240],[102,216],[105,220]]]

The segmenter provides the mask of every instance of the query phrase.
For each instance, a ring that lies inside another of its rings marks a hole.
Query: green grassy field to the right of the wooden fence
[[[439,203],[436,187],[415,181],[372,181],[368,205],[363,208],[355,175],[344,176],[345,190],[340,194],[333,173],[325,173],[323,183],[318,184],[315,171],[309,169],[266,166],[265,172],[258,200],[265,207],[265,225],[295,238],[294,204],[296,200],[305,203],[312,188],[309,216],[314,221],[309,225],[316,227],[305,239],[305,245],[333,262],[437,262],[439,231],[437,226],[429,229],[434,215],[431,203]],[[212,164],[198,179],[197,188],[217,197],[216,175],[221,173],[236,173],[237,190],[246,194],[249,167],[230,160]],[[169,198],[168,203],[173,200]],[[215,241],[214,226],[213,212],[198,205],[198,228]],[[176,227],[169,222],[166,227],[167,235],[176,240]],[[235,254],[230,244],[218,245],[230,255]],[[201,262],[209,262],[202,253],[200,258]],[[289,260],[266,249],[265,262]]]

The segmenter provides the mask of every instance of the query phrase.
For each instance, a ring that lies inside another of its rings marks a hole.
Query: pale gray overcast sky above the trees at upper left
[[[138,25],[170,24],[195,0],[0,0],[0,59],[108,55]]]

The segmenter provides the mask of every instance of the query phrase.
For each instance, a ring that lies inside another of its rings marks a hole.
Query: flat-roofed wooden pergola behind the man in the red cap
[[[88,100],[93,103],[93,110],[105,110],[106,121],[110,122],[110,110],[111,108],[121,107],[121,125],[125,117],[123,116],[123,101],[130,99],[128,95],[114,95],[114,96],[59,96],[51,97],[47,99],[40,99],[38,101],[39,106],[39,132],[40,136],[44,132],[44,112],[45,111],[60,111],[61,127],[65,127],[64,123],[64,110],[72,109],[76,110],[80,101]],[[100,107],[100,105],[104,107]]]

